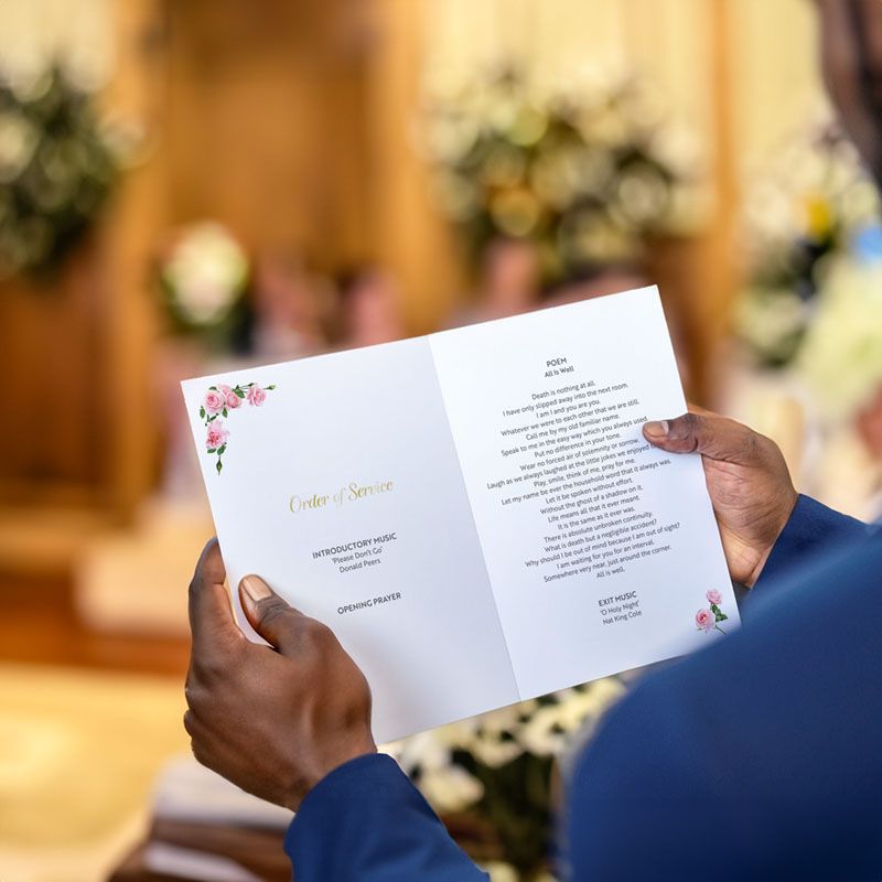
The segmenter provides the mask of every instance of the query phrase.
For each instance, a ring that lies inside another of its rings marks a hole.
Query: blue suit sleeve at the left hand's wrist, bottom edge
[[[284,840],[297,882],[487,882],[385,754],[335,768],[303,800]]]

